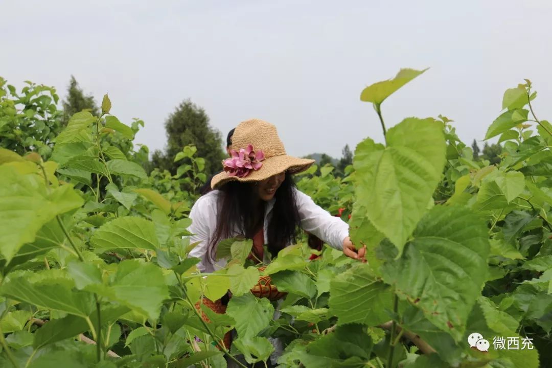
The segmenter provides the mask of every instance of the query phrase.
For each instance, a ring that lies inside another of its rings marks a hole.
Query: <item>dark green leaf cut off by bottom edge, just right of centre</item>
[[[306,368],[363,368],[370,360],[372,348],[372,339],[364,327],[348,324],[307,345],[300,352],[300,361]]]

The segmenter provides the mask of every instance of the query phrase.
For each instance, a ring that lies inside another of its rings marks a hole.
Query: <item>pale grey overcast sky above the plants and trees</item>
[[[359,95],[401,67],[431,69],[383,103],[388,128],[443,114],[465,142],[482,140],[523,78],[537,117],[552,119],[550,0],[0,0],[0,14],[0,76],[65,97],[73,74],[98,101],[109,92],[121,121],[143,119],[136,142],[151,151],[190,98],[223,136],[259,118],[290,154],[340,157],[383,140]]]

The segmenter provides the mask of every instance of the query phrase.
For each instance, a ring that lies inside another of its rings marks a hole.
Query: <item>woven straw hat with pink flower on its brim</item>
[[[213,189],[232,180],[260,182],[284,171],[300,173],[315,162],[288,156],[276,127],[259,119],[243,121],[236,127],[231,148],[232,158],[222,161],[225,171],[211,179]]]

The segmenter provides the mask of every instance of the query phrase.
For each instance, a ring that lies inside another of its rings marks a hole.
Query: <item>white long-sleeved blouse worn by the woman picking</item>
[[[301,227],[305,231],[322,239],[322,241],[327,243],[330,247],[342,250],[343,240],[349,236],[349,225],[347,222],[344,222],[339,217],[330,215],[329,212],[316,205],[305,193],[297,189],[294,190]],[[215,262],[208,251],[210,239],[215,233],[216,219],[219,211],[217,199],[221,194],[222,192],[219,190],[210,191],[201,196],[190,211],[189,217],[192,219],[192,225],[188,227],[188,231],[193,234],[189,236],[190,244],[195,242],[199,242],[199,244],[190,251],[188,257],[198,257],[201,259],[198,263],[198,269],[201,272],[213,272],[216,269],[223,268],[228,261],[227,259],[221,259],[219,262]],[[267,202],[263,225],[264,239],[268,238],[268,220],[270,218],[269,216],[272,215],[271,211],[274,207],[275,200],[276,199],[273,198]],[[231,237],[236,237],[238,235],[240,234],[236,232],[232,234]]]

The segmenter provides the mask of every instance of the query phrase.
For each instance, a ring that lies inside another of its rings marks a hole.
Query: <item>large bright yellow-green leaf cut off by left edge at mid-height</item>
[[[82,204],[71,185],[59,186],[46,194],[43,178],[21,175],[12,167],[1,166],[0,253],[9,263],[24,243],[35,241],[43,225]]]

